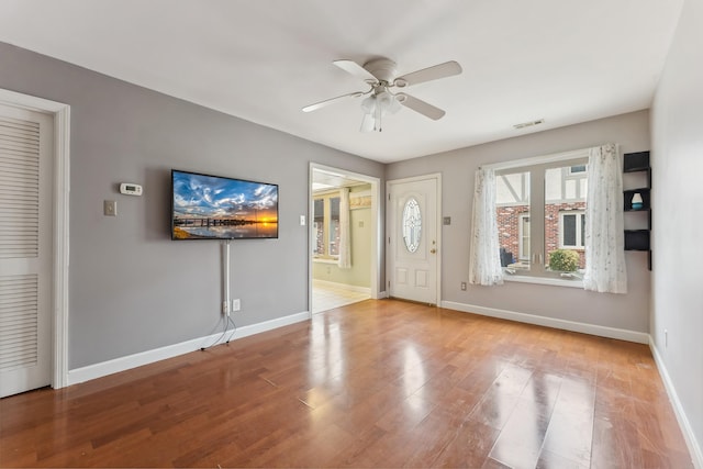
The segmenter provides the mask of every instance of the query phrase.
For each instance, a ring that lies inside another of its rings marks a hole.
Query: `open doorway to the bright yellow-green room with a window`
[[[312,314],[379,298],[379,200],[380,179],[311,164],[309,311]]]

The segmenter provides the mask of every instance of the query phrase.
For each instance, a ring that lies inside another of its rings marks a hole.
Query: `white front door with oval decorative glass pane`
[[[389,297],[437,304],[438,176],[388,182]]]

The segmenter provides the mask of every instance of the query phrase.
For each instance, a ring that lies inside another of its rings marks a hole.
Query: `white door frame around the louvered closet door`
[[[0,89],[0,104],[48,114],[54,119],[52,233],[52,388],[68,386],[68,260],[70,191],[70,107]]]

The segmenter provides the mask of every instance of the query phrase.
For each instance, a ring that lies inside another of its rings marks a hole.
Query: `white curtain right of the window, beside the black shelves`
[[[615,144],[589,153],[585,205],[585,290],[627,293],[622,159]]]

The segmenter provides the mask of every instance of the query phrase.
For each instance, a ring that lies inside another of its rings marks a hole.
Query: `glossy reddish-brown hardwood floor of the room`
[[[2,467],[689,468],[645,345],[394,300],[0,400]]]

